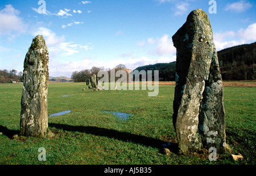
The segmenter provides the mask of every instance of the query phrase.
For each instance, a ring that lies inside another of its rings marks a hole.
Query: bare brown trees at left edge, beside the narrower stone
[[[0,70],[0,83],[11,83],[12,80],[22,81],[23,72],[16,70]]]

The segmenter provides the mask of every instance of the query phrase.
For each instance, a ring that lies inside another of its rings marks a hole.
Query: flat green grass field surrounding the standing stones
[[[48,118],[54,135],[44,139],[17,136],[23,84],[0,84],[0,164],[255,164],[256,88],[225,87],[227,143],[230,152],[209,161],[208,151],[176,151],[172,126],[174,85],[159,85],[159,94],[148,91],[93,91],[85,83],[50,83],[48,115],[64,110],[71,113]],[[118,121],[104,111],[133,114]],[[171,153],[160,144],[171,142]],[[172,147],[173,146],[173,147]],[[46,161],[39,161],[39,148],[46,149]]]

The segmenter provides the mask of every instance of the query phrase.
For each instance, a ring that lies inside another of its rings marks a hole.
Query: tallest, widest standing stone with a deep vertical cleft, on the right
[[[172,36],[177,49],[173,123],[181,151],[225,152],[223,85],[208,15],[192,11]]]

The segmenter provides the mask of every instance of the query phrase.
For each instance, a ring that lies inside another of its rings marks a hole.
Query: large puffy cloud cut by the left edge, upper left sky
[[[26,31],[26,24],[18,16],[19,13],[12,5],[5,5],[0,11],[0,35],[12,35],[13,38]]]

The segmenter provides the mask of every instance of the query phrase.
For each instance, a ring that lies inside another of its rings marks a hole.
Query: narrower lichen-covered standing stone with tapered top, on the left
[[[43,36],[33,38],[24,60],[20,135],[43,138],[48,131],[48,62]]]

